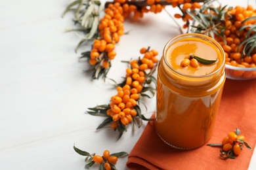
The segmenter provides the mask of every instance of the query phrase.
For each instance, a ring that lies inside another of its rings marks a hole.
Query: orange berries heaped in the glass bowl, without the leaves
[[[256,54],[246,54],[245,56],[243,54],[244,44],[242,44],[242,42],[255,34],[254,31],[249,31],[249,25],[255,25],[256,19],[243,22],[252,16],[256,16],[256,9],[253,9],[251,5],[248,5],[247,8],[237,6],[228,11],[224,24],[226,27],[224,31],[226,43],[223,39],[218,39],[225,52],[226,64],[236,67],[256,67]],[[244,29],[241,29],[242,27]]]

